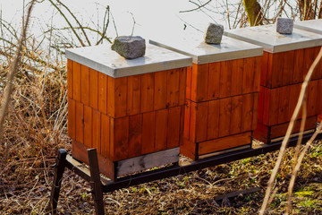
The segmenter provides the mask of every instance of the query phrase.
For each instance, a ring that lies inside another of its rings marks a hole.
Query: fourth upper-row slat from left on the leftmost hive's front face
[[[155,73],[154,110],[164,109],[166,107],[166,74],[167,71]]]

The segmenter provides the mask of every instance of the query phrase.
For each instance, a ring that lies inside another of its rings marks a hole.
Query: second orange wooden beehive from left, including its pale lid
[[[250,147],[257,125],[262,47],[227,37],[221,45],[208,45],[202,34],[150,43],[192,56],[181,153],[201,159]]]

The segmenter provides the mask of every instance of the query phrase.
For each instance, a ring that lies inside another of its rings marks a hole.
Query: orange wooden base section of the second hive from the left
[[[182,146],[180,146],[180,152],[182,155],[196,160],[214,152],[224,153],[225,150],[238,150],[242,146],[250,147],[251,140],[251,132],[238,133],[206,142],[191,142],[184,139]]]

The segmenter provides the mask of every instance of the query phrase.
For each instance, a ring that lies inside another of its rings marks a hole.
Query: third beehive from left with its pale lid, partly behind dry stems
[[[227,30],[225,35],[264,47],[258,129],[254,132],[254,137],[269,143],[277,137],[284,136],[300,95],[301,83],[322,45],[322,36],[298,29],[293,29],[292,35],[282,35],[276,32],[275,25]],[[322,92],[321,78],[322,66],[319,64],[309,82],[306,130],[316,127],[321,107],[318,99]],[[300,120],[296,122],[293,133],[299,131]]]

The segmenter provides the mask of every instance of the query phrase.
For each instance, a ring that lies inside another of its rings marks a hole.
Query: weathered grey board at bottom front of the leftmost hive
[[[117,176],[179,162],[179,147],[117,162]]]

